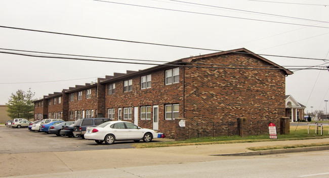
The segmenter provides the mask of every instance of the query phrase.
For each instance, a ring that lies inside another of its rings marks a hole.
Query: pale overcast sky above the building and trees
[[[0,52],[58,56],[4,50],[11,49],[167,62],[215,52],[5,28],[15,27],[212,50],[246,48],[256,54],[326,59],[263,56],[294,71],[286,77],[286,95],[292,95],[307,106],[308,112],[325,110],[324,100],[329,99],[329,71],[295,71],[293,68],[329,65],[329,2],[269,1],[2,0]],[[0,60],[0,104],[7,103],[11,93],[19,89],[31,88],[36,98],[42,98],[114,72],[152,67],[5,53],[0,53]],[[329,107],[329,103],[327,105]]]

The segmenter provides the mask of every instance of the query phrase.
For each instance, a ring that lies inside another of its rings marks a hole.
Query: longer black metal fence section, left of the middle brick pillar
[[[186,121],[185,139],[238,136],[237,122]]]

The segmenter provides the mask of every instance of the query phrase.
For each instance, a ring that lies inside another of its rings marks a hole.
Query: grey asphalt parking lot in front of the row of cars
[[[142,141],[141,141],[142,142]],[[113,145],[96,144],[81,138],[57,137],[45,132],[25,128],[0,126],[0,154],[59,151],[83,151],[133,148],[133,141],[115,142]]]

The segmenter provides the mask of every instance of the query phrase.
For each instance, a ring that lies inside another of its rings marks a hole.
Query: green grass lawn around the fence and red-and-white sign
[[[307,126],[291,126],[290,135],[278,135],[277,139],[269,139],[269,136],[249,136],[242,138],[239,136],[234,137],[216,137],[216,138],[195,138],[188,139],[184,141],[174,141],[174,142],[151,142],[151,143],[139,143],[134,144],[135,148],[153,148],[153,147],[170,147],[170,146],[185,146],[185,145],[207,145],[207,144],[227,144],[227,143],[245,143],[245,142],[265,142],[265,141],[284,141],[284,140],[304,140],[304,139],[323,139],[329,138],[328,135],[328,126],[323,127],[323,136],[320,136],[320,133],[315,134],[315,126],[311,126],[309,134],[307,133]],[[296,130],[296,131],[295,131]],[[320,127],[319,127],[320,132]],[[323,146],[323,145],[321,145]],[[291,148],[297,148],[290,146]],[[307,146],[299,146],[307,147]],[[269,148],[255,148],[268,150]],[[270,149],[280,149],[280,148],[270,148]]]

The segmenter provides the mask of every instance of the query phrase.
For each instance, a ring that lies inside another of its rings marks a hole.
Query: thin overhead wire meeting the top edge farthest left
[[[253,21],[260,21],[260,22],[271,22],[271,23],[279,23],[279,24],[286,24],[286,25],[299,25],[299,26],[308,26],[308,27],[317,27],[317,28],[329,28],[329,27],[304,25],[304,24],[297,24],[297,23],[277,22],[277,21],[270,21],[270,20],[260,20],[260,19],[251,19],[251,18],[243,18],[243,17],[224,16],[224,15],[217,15],[217,14],[199,13],[199,12],[192,12],[192,11],[166,9],[166,8],[156,8],[156,7],[150,7],[150,6],[132,5],[132,4],[116,3],[116,2],[101,1],[101,0],[94,0],[94,1],[104,2],[104,3],[112,3],[112,4],[119,4],[119,5],[127,5],[127,6],[135,6],[135,7],[143,7],[143,8],[151,8],[151,9],[159,9],[159,10],[167,10],[167,11],[184,12],[184,13],[199,14],[199,15],[210,15],[210,16],[217,16],[217,17],[227,17],[227,18],[243,19],[243,20],[253,20]]]

